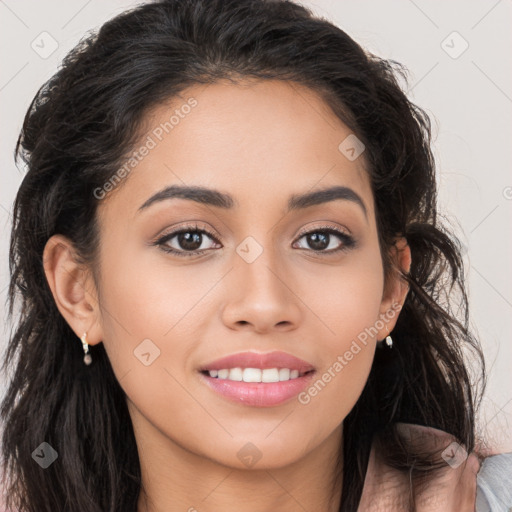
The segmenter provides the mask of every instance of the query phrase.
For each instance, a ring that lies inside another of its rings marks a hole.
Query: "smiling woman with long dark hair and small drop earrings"
[[[498,496],[477,496],[483,359],[402,71],[264,0],[142,5],[65,58],[17,146],[8,506]]]

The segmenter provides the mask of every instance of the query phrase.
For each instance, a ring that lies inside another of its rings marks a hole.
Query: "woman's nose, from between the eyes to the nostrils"
[[[293,274],[278,264],[274,251],[263,250],[252,263],[237,256],[225,285],[222,320],[230,329],[264,334],[299,326],[302,302]]]

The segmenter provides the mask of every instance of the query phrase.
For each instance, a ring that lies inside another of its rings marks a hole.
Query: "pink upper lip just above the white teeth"
[[[260,368],[262,370],[265,368],[289,368],[290,370],[299,370],[301,374],[315,369],[311,363],[303,359],[299,359],[286,352],[276,351],[264,354],[258,352],[231,354],[203,366],[201,371],[230,368]]]

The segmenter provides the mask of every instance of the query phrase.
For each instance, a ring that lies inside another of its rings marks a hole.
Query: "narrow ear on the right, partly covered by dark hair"
[[[380,324],[384,324],[377,335],[383,340],[394,328],[409,291],[409,284],[401,276],[408,274],[411,268],[411,248],[407,240],[398,238],[390,249],[391,269],[385,285],[380,307]],[[379,324],[377,324],[379,325]]]

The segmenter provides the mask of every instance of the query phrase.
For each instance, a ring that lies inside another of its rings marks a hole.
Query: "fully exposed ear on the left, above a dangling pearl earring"
[[[96,286],[68,238],[53,235],[46,242],[43,267],[55,304],[68,325],[78,338],[86,332],[89,345],[99,343],[103,333]]]

